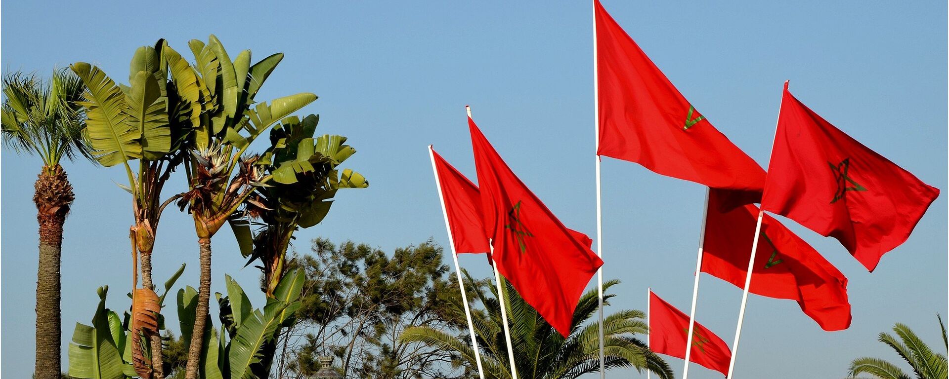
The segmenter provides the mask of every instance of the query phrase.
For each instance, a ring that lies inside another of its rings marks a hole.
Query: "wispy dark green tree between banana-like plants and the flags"
[[[446,280],[442,249],[431,241],[385,253],[368,244],[313,241],[312,254],[291,266],[306,270],[299,322],[286,340],[277,377],[308,377],[317,357],[333,355],[346,378],[471,377],[457,369],[454,352],[399,339],[411,325],[460,331],[464,318],[446,298],[458,290]]]

